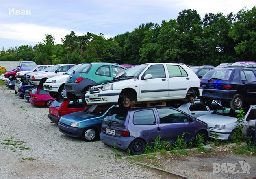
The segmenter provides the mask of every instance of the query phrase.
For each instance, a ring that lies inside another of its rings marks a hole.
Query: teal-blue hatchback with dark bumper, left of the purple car
[[[59,119],[59,131],[70,137],[82,137],[84,141],[95,141],[99,138],[104,117],[114,106],[117,105],[93,105],[64,115]]]

